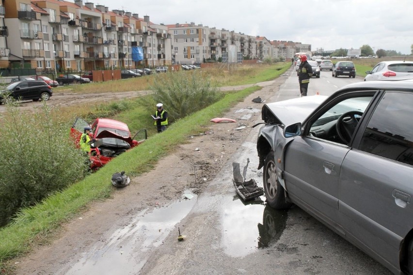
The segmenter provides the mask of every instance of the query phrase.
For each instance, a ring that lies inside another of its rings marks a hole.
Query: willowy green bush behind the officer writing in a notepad
[[[152,97],[143,99],[149,113],[155,112],[157,103],[163,103],[172,121],[186,117],[222,98],[218,88],[211,87],[202,71],[177,71],[157,74],[150,87]]]

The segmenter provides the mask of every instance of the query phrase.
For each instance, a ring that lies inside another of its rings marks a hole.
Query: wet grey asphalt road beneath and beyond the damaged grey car
[[[311,79],[308,95],[330,95],[358,81],[362,79],[334,78],[323,71],[320,78]],[[297,86],[292,72],[267,102],[297,97]],[[171,234],[164,245],[154,248],[139,274],[389,274],[300,208],[275,211],[265,206],[264,197],[244,204],[234,196],[233,162],[242,168],[249,158],[247,179],[262,186],[262,171],[255,169],[258,128],[179,222],[182,234],[191,232],[191,236],[174,242],[176,235]]]

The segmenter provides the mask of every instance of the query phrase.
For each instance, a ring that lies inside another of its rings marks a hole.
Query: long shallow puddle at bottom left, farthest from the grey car
[[[116,230],[106,244],[96,245],[75,263],[66,275],[90,274],[137,274],[147,260],[147,252],[163,244],[165,238],[176,230],[175,225],[182,220],[196,203],[197,195],[191,199],[181,199],[167,207],[156,208],[153,212],[143,210],[126,227]],[[186,197],[191,197],[186,196]],[[184,195],[182,196],[184,198]],[[122,271],[119,269],[122,267]],[[121,272],[121,273],[120,273]]]

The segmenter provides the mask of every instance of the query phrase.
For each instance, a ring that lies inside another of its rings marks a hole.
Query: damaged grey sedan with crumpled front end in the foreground
[[[413,272],[413,79],[265,104],[267,203],[296,204],[395,274]]]

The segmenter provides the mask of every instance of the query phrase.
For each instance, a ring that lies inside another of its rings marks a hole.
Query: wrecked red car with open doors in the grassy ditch
[[[130,136],[127,124],[111,119],[98,118],[89,125],[81,118],[77,118],[70,129],[70,135],[79,147],[79,140],[85,126],[92,127],[92,137],[95,142],[91,144],[90,168],[101,168],[112,158],[136,147],[147,139],[146,129],[138,131],[133,138]]]

